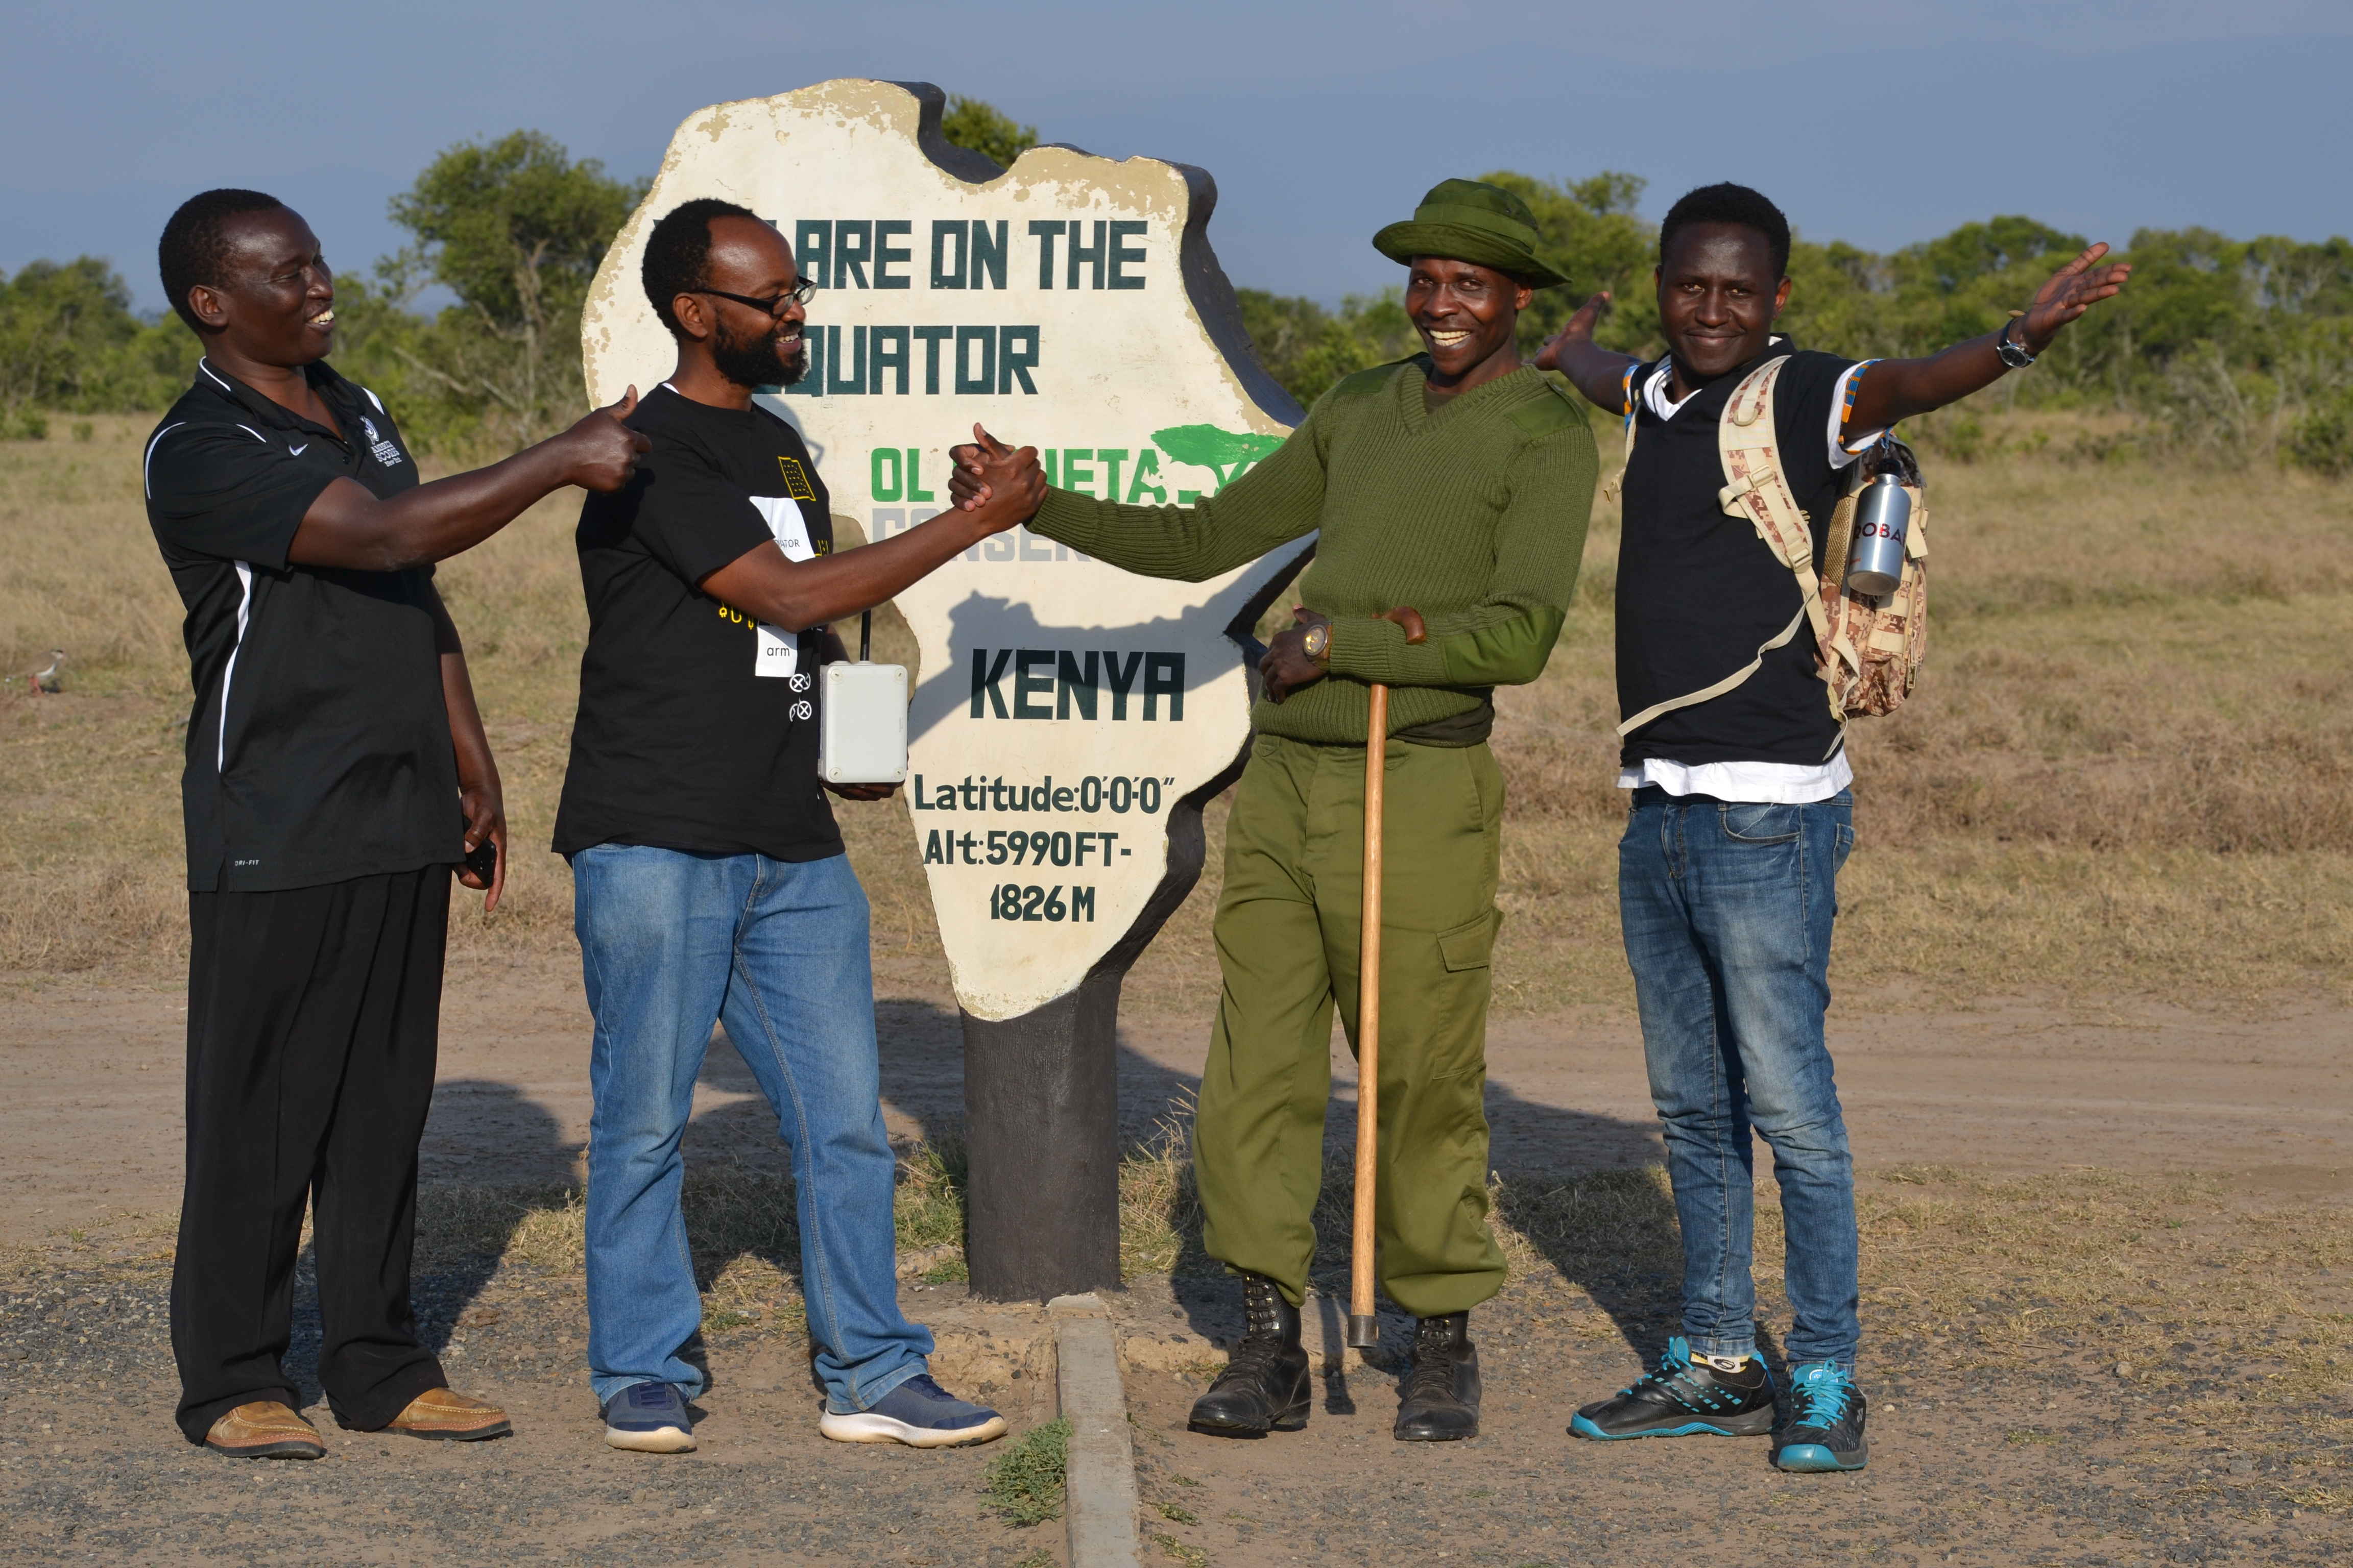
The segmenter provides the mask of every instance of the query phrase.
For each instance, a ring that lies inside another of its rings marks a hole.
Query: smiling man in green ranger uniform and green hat
[[[1193,508],[1052,489],[1031,529],[1129,571],[1207,578],[1318,531],[1299,623],[1261,663],[1257,741],[1226,825],[1224,999],[1193,1147],[1202,1244],[1242,1276],[1247,1333],[1193,1406],[1198,1432],[1308,1415],[1299,1305],[1315,1251],[1332,1009],[1358,1027],[1369,684],[1393,689],[1381,917],[1381,1279],[1417,1314],[1395,1436],[1478,1434],[1471,1307],[1504,1284],[1487,1227],[1485,1027],[1504,780],[1492,689],[1544,672],[1577,588],[1593,433],[1522,369],[1537,226],[1511,193],[1449,179],[1374,244],[1409,270],[1424,353],[1348,376],[1264,463]],[[958,449],[958,496],[1016,482]],[[1419,614],[1417,614],[1419,611]]]

